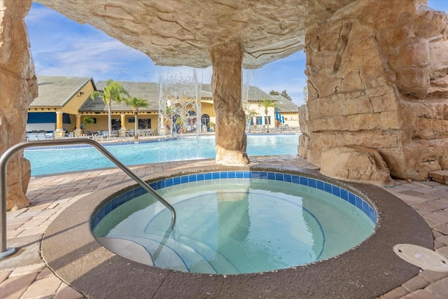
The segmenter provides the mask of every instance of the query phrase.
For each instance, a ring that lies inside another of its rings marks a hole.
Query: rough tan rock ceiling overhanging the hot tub
[[[155,64],[209,67],[207,49],[244,46],[243,67],[262,65],[304,48],[305,29],[354,0],[37,0],[90,24]]]

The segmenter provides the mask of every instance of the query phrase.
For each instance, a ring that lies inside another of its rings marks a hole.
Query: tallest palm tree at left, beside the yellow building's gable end
[[[126,97],[129,97],[129,94],[127,93],[127,91],[125,90],[125,88],[123,88],[123,86],[116,82],[113,81],[112,79],[109,79],[108,81],[106,81],[106,87],[104,88],[104,90],[94,90],[94,92],[92,92],[92,94],[90,95],[90,99],[95,100],[95,98],[97,97],[101,97],[103,99],[104,104],[107,105],[107,110],[108,110],[108,117],[107,117],[107,121],[108,121],[108,129],[109,129],[109,136],[111,136],[112,134],[112,109],[111,109],[111,103],[113,102],[123,102],[125,101]]]

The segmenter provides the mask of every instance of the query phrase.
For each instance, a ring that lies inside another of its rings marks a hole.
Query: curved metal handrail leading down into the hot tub
[[[174,211],[174,207],[169,204],[166,200],[163,199],[151,186],[149,186],[145,181],[139,178],[134,172],[131,171],[131,169],[127,168],[120,160],[115,158],[109,151],[106,150],[101,144],[99,144],[97,141],[94,141],[92,139],[55,139],[55,140],[39,140],[39,141],[26,141],[21,142],[20,144],[15,144],[14,146],[11,146],[8,148],[1,156],[0,156],[0,193],[1,193],[1,207],[0,207],[0,230],[1,230],[1,240],[0,240],[0,260],[3,258],[6,258],[6,256],[10,256],[15,252],[14,248],[6,248],[6,165],[8,165],[8,162],[10,158],[13,157],[13,155],[24,148],[29,148],[31,146],[60,146],[60,145],[66,145],[66,144],[90,144],[94,148],[97,148],[97,150],[106,156],[106,158],[109,158],[115,165],[120,167],[120,169],[123,170],[128,176],[130,176],[134,181],[137,181],[141,187],[143,187],[148,193],[151,193],[159,202],[162,202],[169,211],[171,211],[171,229],[174,228],[174,223],[176,222],[176,211]]]

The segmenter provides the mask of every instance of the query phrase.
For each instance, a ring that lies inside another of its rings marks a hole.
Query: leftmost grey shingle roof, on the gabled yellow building
[[[29,106],[62,107],[91,80],[87,77],[37,76],[39,95]]]

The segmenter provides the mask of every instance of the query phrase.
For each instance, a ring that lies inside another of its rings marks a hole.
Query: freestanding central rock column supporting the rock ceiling
[[[216,163],[247,165],[246,118],[241,100],[244,49],[239,41],[209,48],[213,75],[211,91],[216,111]]]

